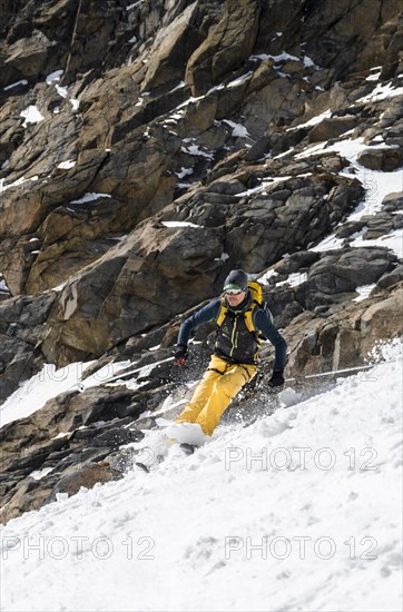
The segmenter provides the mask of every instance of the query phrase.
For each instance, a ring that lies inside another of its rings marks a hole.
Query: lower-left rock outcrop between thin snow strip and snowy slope
[[[81,486],[90,488],[97,482],[121,477],[121,472],[110,470],[102,460],[119,445],[141,440],[140,431],[122,428],[140,412],[127,391],[76,391],[48,402],[30,417],[3,426],[2,521],[37,510],[58,493],[75,494]],[[41,477],[36,476],[40,471]]]

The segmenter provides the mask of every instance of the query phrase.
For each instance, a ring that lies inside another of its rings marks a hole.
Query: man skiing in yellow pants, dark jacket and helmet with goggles
[[[229,273],[222,297],[213,299],[180,326],[175,358],[183,365],[191,332],[210,320],[217,323],[217,336],[208,368],[190,402],[167,430],[178,442],[202,444],[210,436],[230,401],[256,375],[259,336],[275,347],[271,387],[284,384],[287,345],[273,325],[269,310],[254,299],[254,287],[242,269]],[[193,425],[188,425],[193,424]]]

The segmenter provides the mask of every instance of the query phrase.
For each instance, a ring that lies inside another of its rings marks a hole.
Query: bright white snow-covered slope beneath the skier
[[[1,610],[401,610],[394,347],[327,393],[220,425],[190,457],[170,446],[148,474],[10,521]]]

